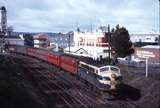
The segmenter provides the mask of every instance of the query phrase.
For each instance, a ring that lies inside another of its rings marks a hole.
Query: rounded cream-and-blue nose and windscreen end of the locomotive
[[[103,66],[98,69],[98,88],[103,91],[115,90],[122,82],[120,69],[116,66]]]

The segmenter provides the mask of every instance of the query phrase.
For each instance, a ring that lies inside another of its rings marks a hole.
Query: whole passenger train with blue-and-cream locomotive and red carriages
[[[120,68],[112,65],[95,65],[87,58],[70,56],[63,52],[53,52],[40,48],[9,45],[9,53],[18,53],[38,58],[53,64],[68,72],[78,79],[87,81],[90,85],[100,91],[111,91],[117,89],[122,83]]]

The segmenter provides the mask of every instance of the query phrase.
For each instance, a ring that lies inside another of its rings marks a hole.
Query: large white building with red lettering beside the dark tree
[[[74,32],[74,47],[64,49],[64,52],[75,55],[101,59],[109,56],[109,44],[102,31]]]

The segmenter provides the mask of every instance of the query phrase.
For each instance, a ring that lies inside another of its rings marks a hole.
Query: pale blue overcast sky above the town
[[[158,31],[158,0],[0,0],[14,31],[67,32],[120,24],[129,33]]]

